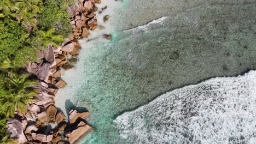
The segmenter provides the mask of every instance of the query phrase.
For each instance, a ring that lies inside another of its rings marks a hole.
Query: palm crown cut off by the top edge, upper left
[[[39,13],[40,12],[40,9],[38,7],[39,3],[42,3],[42,0],[16,0],[15,6],[18,7],[19,9],[27,8],[33,13]]]

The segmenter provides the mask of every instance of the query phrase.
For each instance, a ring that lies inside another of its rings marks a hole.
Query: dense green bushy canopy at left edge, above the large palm
[[[0,62],[8,57],[14,61],[14,67],[22,67],[27,61],[36,61],[34,50],[24,46],[29,34],[17,21],[4,17],[0,31]]]

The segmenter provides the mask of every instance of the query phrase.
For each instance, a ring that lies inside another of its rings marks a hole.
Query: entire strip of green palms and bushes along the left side
[[[36,82],[24,72],[24,65],[38,61],[35,49],[45,49],[49,43],[58,46],[72,32],[66,11],[72,3],[71,0],[0,1],[0,143],[10,141],[5,129],[8,119],[15,112],[24,115],[37,95],[31,87]]]

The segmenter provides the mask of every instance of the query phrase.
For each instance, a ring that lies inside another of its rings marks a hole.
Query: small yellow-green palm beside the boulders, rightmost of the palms
[[[44,43],[44,46],[47,46],[48,44],[53,44],[54,46],[60,46],[59,43],[61,43],[64,40],[63,35],[61,34],[54,34],[55,28],[50,28],[48,31],[39,31],[40,36]]]

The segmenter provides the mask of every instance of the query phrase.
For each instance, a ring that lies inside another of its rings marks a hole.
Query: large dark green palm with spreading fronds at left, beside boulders
[[[0,100],[4,101],[3,110],[7,117],[14,117],[15,110],[21,115],[27,111],[28,103],[34,101],[37,95],[36,89],[32,85],[36,85],[36,81],[27,80],[28,74],[16,73],[10,71],[8,73],[7,89],[0,91]]]

